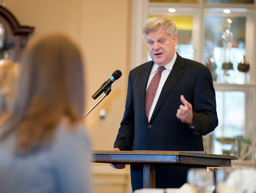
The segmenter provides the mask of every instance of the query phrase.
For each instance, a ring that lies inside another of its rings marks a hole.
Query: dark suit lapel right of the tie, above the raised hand
[[[172,90],[174,85],[179,81],[179,78],[184,73],[184,70],[182,69],[182,67],[184,67],[184,66],[185,66],[185,64],[184,64],[183,58],[177,54],[177,59],[174,62],[172,70],[164,83],[164,86],[163,86],[160,96],[157,100],[157,104],[154,108],[154,111],[152,113],[152,117],[150,120],[152,120],[154,118],[154,116],[156,115],[159,108],[164,103],[164,100],[166,99],[166,97],[168,96],[168,94],[170,93],[170,91]]]

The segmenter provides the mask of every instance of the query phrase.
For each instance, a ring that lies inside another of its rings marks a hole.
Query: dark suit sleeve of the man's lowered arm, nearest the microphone
[[[131,151],[134,140],[134,99],[132,88],[132,75],[129,73],[128,89],[125,104],[124,117],[119,128],[114,148],[121,151]]]

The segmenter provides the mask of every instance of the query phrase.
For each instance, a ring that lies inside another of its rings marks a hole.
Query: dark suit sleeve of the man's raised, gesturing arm
[[[193,103],[195,128],[192,135],[206,135],[212,132],[218,126],[218,118],[212,76],[207,67],[202,68],[198,75]]]

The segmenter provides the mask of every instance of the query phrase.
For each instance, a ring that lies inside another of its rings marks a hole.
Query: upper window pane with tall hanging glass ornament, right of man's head
[[[246,56],[245,17],[227,18],[205,16],[204,64],[210,59],[216,64],[212,74],[218,83],[247,83],[247,72],[240,72],[238,64]],[[209,62],[208,62],[209,63]]]

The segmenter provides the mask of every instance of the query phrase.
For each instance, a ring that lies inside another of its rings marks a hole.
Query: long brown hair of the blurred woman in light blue
[[[37,151],[53,139],[63,116],[74,123],[84,112],[83,62],[69,37],[54,33],[29,42],[21,60],[14,108],[3,140],[16,132],[21,153]]]

